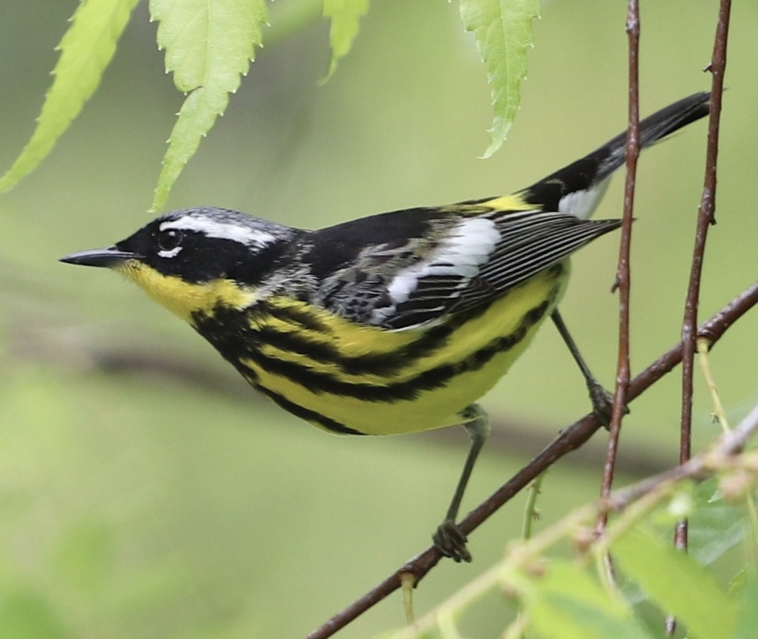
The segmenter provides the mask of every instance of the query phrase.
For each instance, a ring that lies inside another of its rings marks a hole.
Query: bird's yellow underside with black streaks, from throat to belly
[[[136,261],[119,270],[283,408],[330,431],[374,435],[459,423],[528,346],[568,280],[566,261],[481,312],[387,330],[297,299],[257,300],[230,280],[187,283]]]

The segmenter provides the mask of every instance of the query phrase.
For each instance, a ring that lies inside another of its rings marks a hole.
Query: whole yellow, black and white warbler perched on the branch
[[[697,93],[641,122],[649,146],[706,115]],[[186,208],[108,249],[62,262],[107,266],[205,337],[283,409],[327,431],[384,435],[462,424],[471,449],[441,552],[470,561],[456,526],[489,432],[476,401],[545,318],[579,363],[594,411],[609,395],[582,362],[556,305],[568,257],[618,220],[590,221],[626,132],[510,196],[407,208],[302,230],[223,208]]]

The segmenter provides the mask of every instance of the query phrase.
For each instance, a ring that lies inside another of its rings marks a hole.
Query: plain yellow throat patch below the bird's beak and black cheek
[[[245,309],[255,302],[255,290],[242,289],[231,280],[189,283],[174,275],[161,274],[155,268],[150,268],[135,259],[130,259],[115,268],[158,304],[193,326],[193,312],[212,315],[219,302],[231,309]]]

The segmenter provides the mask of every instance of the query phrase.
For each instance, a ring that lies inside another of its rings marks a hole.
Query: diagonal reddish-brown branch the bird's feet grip
[[[716,343],[731,324],[734,324],[748,310],[758,304],[758,282],[733,299],[724,309],[710,318],[698,330],[699,337],[705,337],[710,343]],[[669,371],[681,362],[681,342],[664,353],[659,359],[650,364],[644,371],[634,377],[628,387],[627,401],[635,399],[656,383]],[[524,468],[516,473],[506,484],[503,484],[495,493],[484,500],[477,508],[472,510],[460,522],[460,528],[465,534],[470,534],[493,512],[503,506],[519,490],[522,490],[537,475],[560,459],[565,454],[577,449],[586,442],[597,429],[600,428],[597,420],[592,415],[585,415],[565,431],[562,431],[553,442],[548,444],[543,451],[531,460]],[[329,619],[324,625],[316,628],[306,639],[326,639],[344,628],[353,619],[380,602],[400,587],[401,575],[408,573],[414,575],[415,581],[421,580],[441,559],[440,551],[430,547],[417,556],[409,559],[404,565],[388,576],[380,584],[368,591],[358,600],[351,603],[342,612]]]

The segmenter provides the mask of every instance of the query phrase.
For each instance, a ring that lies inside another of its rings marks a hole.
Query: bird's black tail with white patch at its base
[[[641,147],[650,146],[681,127],[705,117],[710,108],[709,101],[709,93],[695,93],[646,117],[640,122]],[[532,184],[520,195],[545,211],[575,212],[579,217],[586,217],[589,213],[584,215],[585,211],[591,212],[605,190],[603,180],[624,164],[625,149],[626,131],[603,144],[600,149]],[[590,193],[593,190],[597,190],[597,193]],[[573,198],[572,193],[576,193]],[[583,197],[585,193],[588,199]],[[568,199],[564,199],[566,196],[569,196]],[[578,207],[581,211],[573,211]]]

